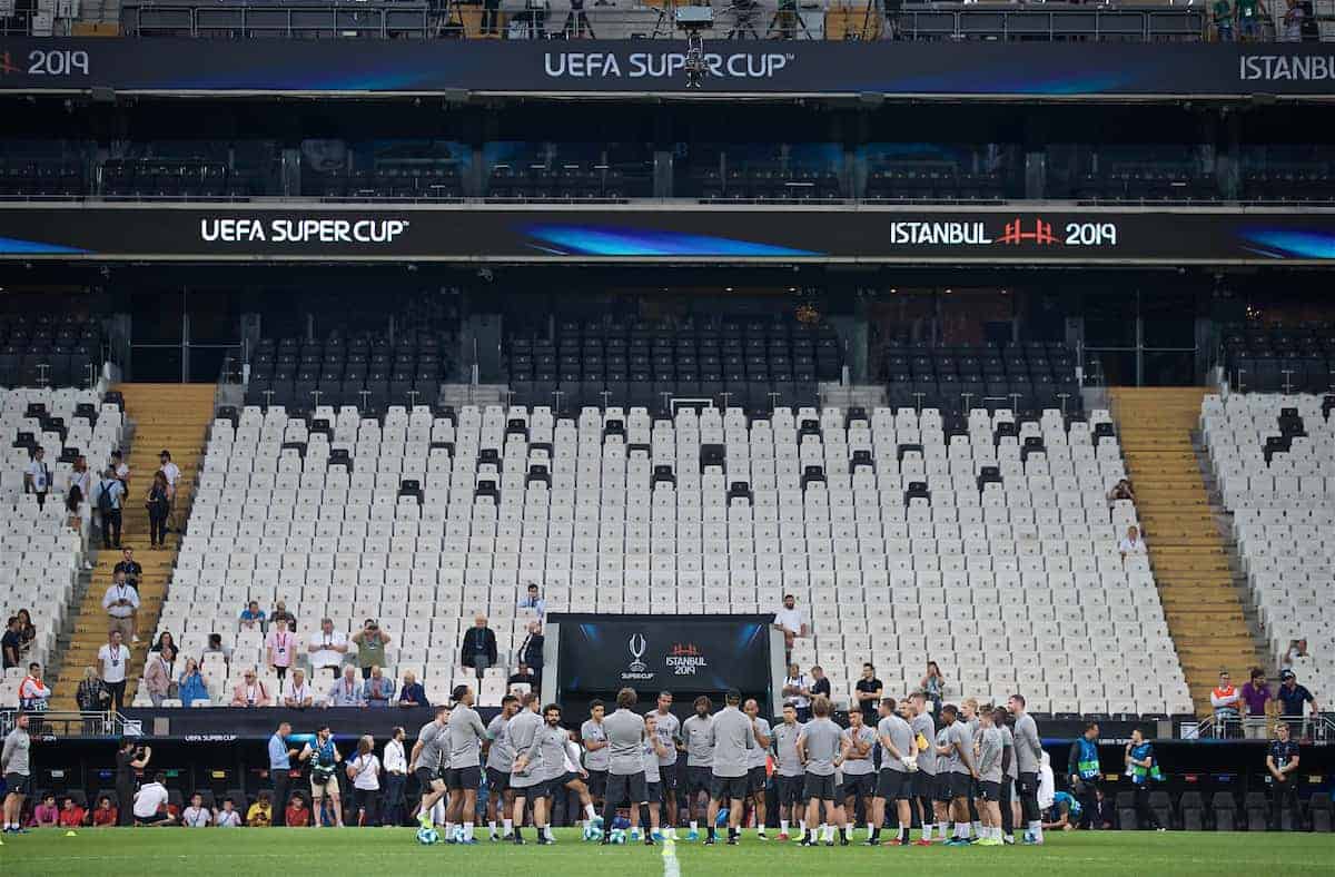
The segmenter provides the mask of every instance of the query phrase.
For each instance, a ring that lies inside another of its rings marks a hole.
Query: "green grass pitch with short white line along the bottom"
[[[865,832],[860,832],[865,836]],[[916,834],[916,833],[914,833]],[[178,874],[179,877],[263,877],[266,874],[426,874],[466,868],[469,874],[663,874],[662,846],[597,846],[577,829],[557,832],[555,846],[421,846],[411,829],[83,829],[33,830],[5,836],[0,874]],[[762,874],[825,877],[885,874],[909,865],[934,868],[1001,866],[1025,877],[1061,874],[1295,874],[1335,873],[1331,834],[1219,834],[1151,832],[1073,832],[1048,834],[1041,848],[989,849],[881,848],[801,849],[793,842],[758,841],[748,832],[742,845],[673,845],[682,877]]]

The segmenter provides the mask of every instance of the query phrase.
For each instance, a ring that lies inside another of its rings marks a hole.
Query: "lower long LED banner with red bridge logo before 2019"
[[[0,260],[1335,263],[1335,210],[0,204]]]

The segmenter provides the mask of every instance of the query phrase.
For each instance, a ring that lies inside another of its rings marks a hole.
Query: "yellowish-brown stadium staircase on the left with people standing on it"
[[[179,537],[167,538],[167,549],[148,547],[148,513],[144,494],[159,469],[158,455],[167,449],[180,467],[176,485],[176,522],[183,525],[195,497],[199,466],[204,458],[208,424],[214,419],[212,384],[154,384],[127,383],[115,387],[125,398],[125,418],[135,424],[131,439],[129,495],[123,510],[121,546],[135,549],[135,559],[144,567],[139,581],[139,637],[131,650],[132,658],[125,687],[125,701],[134,697],[143,673],[150,638],[158,627],[167,585],[176,561]],[[107,613],[101,597],[111,585],[112,570],[121,559],[120,551],[99,551],[92,583],[84,594],[79,614],[73,619],[71,639],[60,657],[60,675],[52,695],[52,709],[77,709],[75,691],[83,679],[84,667],[96,666],[97,649],[107,642]],[[175,633],[175,631],[174,631]]]

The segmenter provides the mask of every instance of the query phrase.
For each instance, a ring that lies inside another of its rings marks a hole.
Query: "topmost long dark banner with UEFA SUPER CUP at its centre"
[[[1335,93],[1320,43],[713,41],[688,91],[673,40],[0,37],[0,93],[884,95],[1072,100]]]

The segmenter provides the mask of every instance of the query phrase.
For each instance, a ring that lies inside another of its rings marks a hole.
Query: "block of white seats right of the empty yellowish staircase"
[[[1267,657],[1278,665],[1307,639],[1294,670],[1314,691],[1335,686],[1332,411],[1335,395],[1314,394],[1212,394],[1200,407]]]

